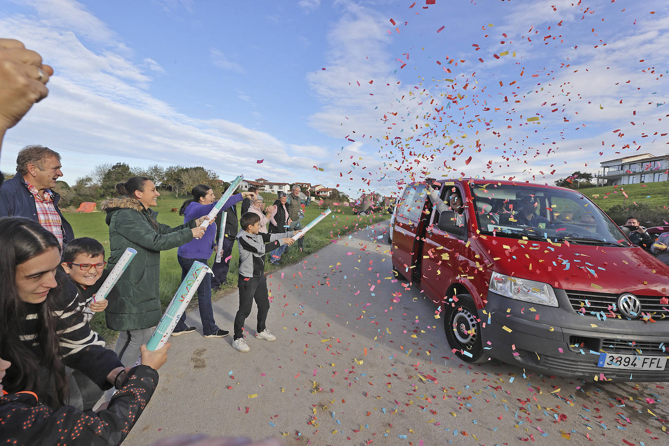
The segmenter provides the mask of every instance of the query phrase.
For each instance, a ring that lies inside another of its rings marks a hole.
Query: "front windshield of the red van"
[[[470,187],[481,233],[632,246],[598,207],[575,191],[490,183]]]

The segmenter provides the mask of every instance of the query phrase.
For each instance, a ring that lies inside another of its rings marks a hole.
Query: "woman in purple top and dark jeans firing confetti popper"
[[[194,218],[197,219],[203,215],[207,215],[216,203],[213,190],[207,185],[193,187],[191,194],[193,198],[184,201],[179,210],[179,215],[183,215],[183,221],[191,221]],[[246,191],[233,195],[225,201],[221,212],[236,205],[242,199],[249,198],[253,200],[255,197],[256,194]],[[207,265],[207,261],[209,261],[209,257],[211,257],[211,253],[213,253],[213,249],[216,246],[215,237],[217,232],[216,223],[212,222],[201,239],[193,239],[177,249],[177,261],[181,265],[181,280],[186,277],[194,261],[197,260]],[[223,336],[227,336],[229,332],[218,328],[213,318],[213,310],[211,308],[211,277],[209,274],[205,274],[205,278],[197,288],[197,304],[200,310],[200,319],[202,320],[202,334],[205,338],[222,338]],[[180,334],[192,333],[194,331],[195,327],[187,326],[186,314],[184,313],[179,323],[177,323],[172,336],[179,336]]]

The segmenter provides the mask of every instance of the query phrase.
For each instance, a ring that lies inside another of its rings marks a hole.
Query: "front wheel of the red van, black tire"
[[[448,345],[457,350],[456,355],[464,362],[472,364],[486,362],[490,356],[483,350],[480,318],[472,296],[459,294],[457,297],[456,306],[449,306],[444,318],[444,331]]]

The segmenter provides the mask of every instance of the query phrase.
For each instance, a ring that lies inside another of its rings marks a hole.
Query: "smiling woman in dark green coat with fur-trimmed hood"
[[[139,348],[146,344],[163,310],[159,292],[161,251],[179,247],[193,238],[202,237],[199,224],[207,217],[191,220],[177,227],[156,221],[160,196],[148,178],[132,177],[116,185],[119,198],[107,199],[102,211],[107,213],[112,268],[128,247],[137,253],[116,283],[119,298],[110,300],[105,310],[107,326],[118,331],[116,354],[124,366],[134,366]]]

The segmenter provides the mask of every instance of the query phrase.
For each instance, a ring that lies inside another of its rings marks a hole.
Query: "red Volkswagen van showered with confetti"
[[[669,380],[669,266],[585,195],[480,179],[434,187],[433,198],[425,183],[405,189],[393,269],[439,306],[458,357],[595,380]],[[458,195],[462,205],[450,209]]]

